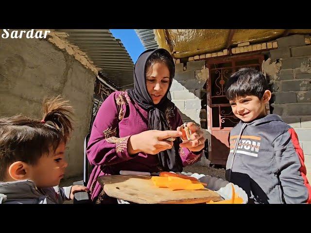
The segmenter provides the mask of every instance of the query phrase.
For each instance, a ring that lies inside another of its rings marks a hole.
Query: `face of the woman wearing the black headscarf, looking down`
[[[170,71],[162,62],[156,62],[146,72],[146,86],[154,102],[158,104],[165,96],[170,85]]]

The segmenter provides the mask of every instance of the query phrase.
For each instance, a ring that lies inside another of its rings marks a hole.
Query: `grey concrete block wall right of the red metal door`
[[[307,36],[291,35],[276,39],[272,61],[280,63],[273,79],[272,113],[278,114],[296,131],[304,150],[307,177],[311,180],[311,45]]]

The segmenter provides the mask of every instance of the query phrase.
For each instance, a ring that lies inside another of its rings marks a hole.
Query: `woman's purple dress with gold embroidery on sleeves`
[[[176,107],[168,108],[165,117],[172,130],[183,124]],[[87,147],[88,160],[95,166],[87,184],[92,200],[103,191],[97,181],[99,176],[119,175],[120,170],[161,170],[157,155],[140,152],[131,156],[127,152],[129,137],[147,130],[148,112],[131,100],[127,92],[116,91],[104,100],[93,123]],[[187,148],[179,149],[183,166],[197,162],[201,154],[193,154]]]

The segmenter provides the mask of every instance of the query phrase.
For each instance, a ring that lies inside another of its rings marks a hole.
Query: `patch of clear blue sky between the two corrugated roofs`
[[[136,63],[138,56],[145,48],[142,46],[134,29],[110,29],[110,32],[117,39],[121,39],[125,49],[130,54],[134,64]]]

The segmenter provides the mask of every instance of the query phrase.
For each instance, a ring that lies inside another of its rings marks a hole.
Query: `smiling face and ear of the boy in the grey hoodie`
[[[229,103],[235,116],[244,122],[266,116],[266,103],[271,98],[271,92],[266,90],[261,100],[257,96],[239,96]]]

